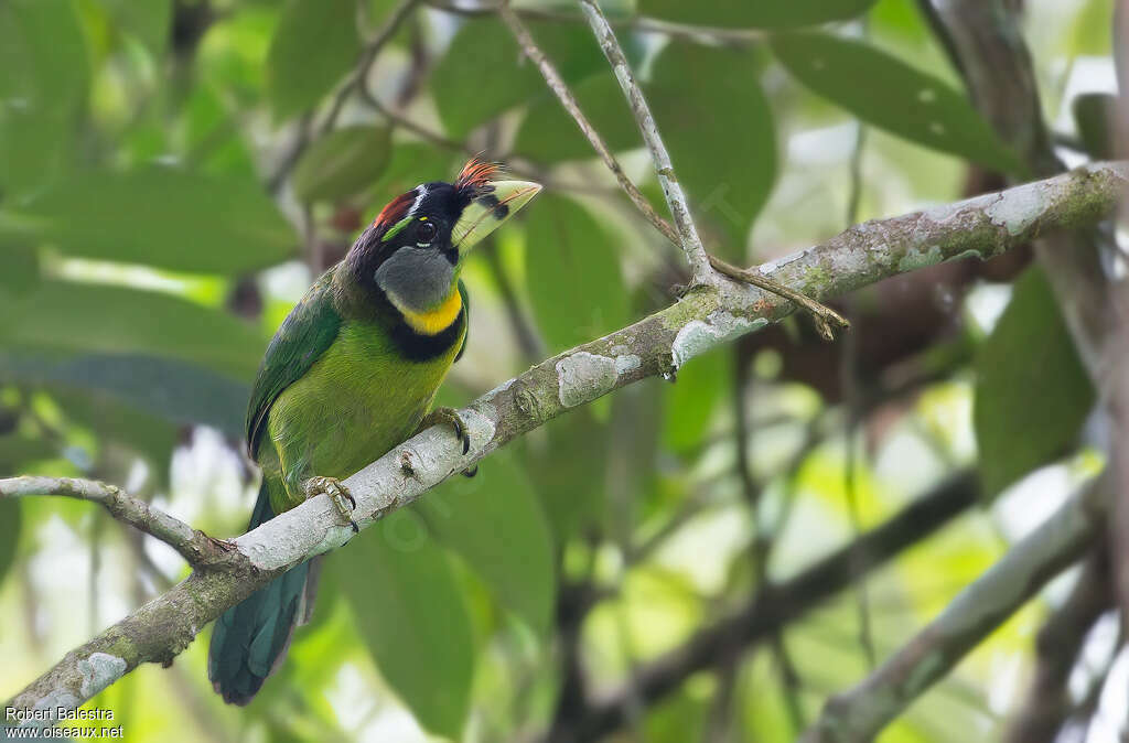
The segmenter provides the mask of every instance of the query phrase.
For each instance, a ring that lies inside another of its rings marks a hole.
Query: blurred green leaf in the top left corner
[[[0,189],[34,191],[72,150],[89,78],[71,0],[0,2]]]

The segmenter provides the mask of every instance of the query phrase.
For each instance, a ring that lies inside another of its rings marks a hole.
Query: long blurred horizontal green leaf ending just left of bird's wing
[[[238,318],[154,291],[43,281],[0,294],[0,346],[181,359],[250,379],[266,346]]]

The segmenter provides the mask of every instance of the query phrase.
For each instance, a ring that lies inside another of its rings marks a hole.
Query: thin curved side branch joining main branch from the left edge
[[[111,516],[168,544],[194,568],[216,563],[228,551],[224,542],[105,482],[34,477],[0,480],[0,498],[24,496],[63,496],[102,504]]]

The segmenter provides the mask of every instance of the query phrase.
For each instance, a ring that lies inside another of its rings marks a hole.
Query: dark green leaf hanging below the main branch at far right
[[[1065,454],[1094,404],[1094,388],[1042,271],[1027,269],[1016,281],[975,368],[980,475],[995,496]]]

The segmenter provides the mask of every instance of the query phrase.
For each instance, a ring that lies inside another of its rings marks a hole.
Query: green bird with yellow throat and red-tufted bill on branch
[[[466,346],[460,278],[471,248],[525,207],[541,185],[500,177],[472,158],[453,183],[393,199],[323,273],[268,346],[247,407],[247,455],[262,470],[248,531],[309,497],[331,497],[353,531],[342,480],[412,434],[449,423],[431,409]],[[208,675],[228,703],[246,705],[309,620],[318,558],[260,588],[216,620]]]

